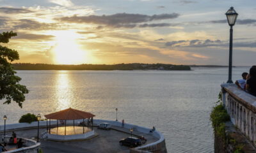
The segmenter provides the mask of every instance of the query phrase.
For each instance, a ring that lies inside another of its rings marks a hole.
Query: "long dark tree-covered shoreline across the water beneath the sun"
[[[191,70],[190,66],[173,64],[81,64],[81,65],[57,65],[57,64],[12,64],[16,70]]]

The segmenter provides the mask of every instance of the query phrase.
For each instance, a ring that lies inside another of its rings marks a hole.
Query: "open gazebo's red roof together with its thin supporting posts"
[[[83,119],[83,134],[84,134],[84,119],[87,119],[87,127],[89,128],[89,122],[92,123],[92,130],[93,130],[93,115],[89,112],[83,112],[81,110],[76,110],[73,108],[68,108],[66,110],[61,110],[60,112],[49,113],[44,115],[47,119],[47,132],[51,134],[51,120],[57,120],[57,128],[59,127],[58,121],[64,122],[65,124],[65,135],[66,135],[66,127],[67,127],[67,120],[73,120],[73,126],[75,127],[75,120]],[[49,126],[48,126],[48,119],[49,119]]]

